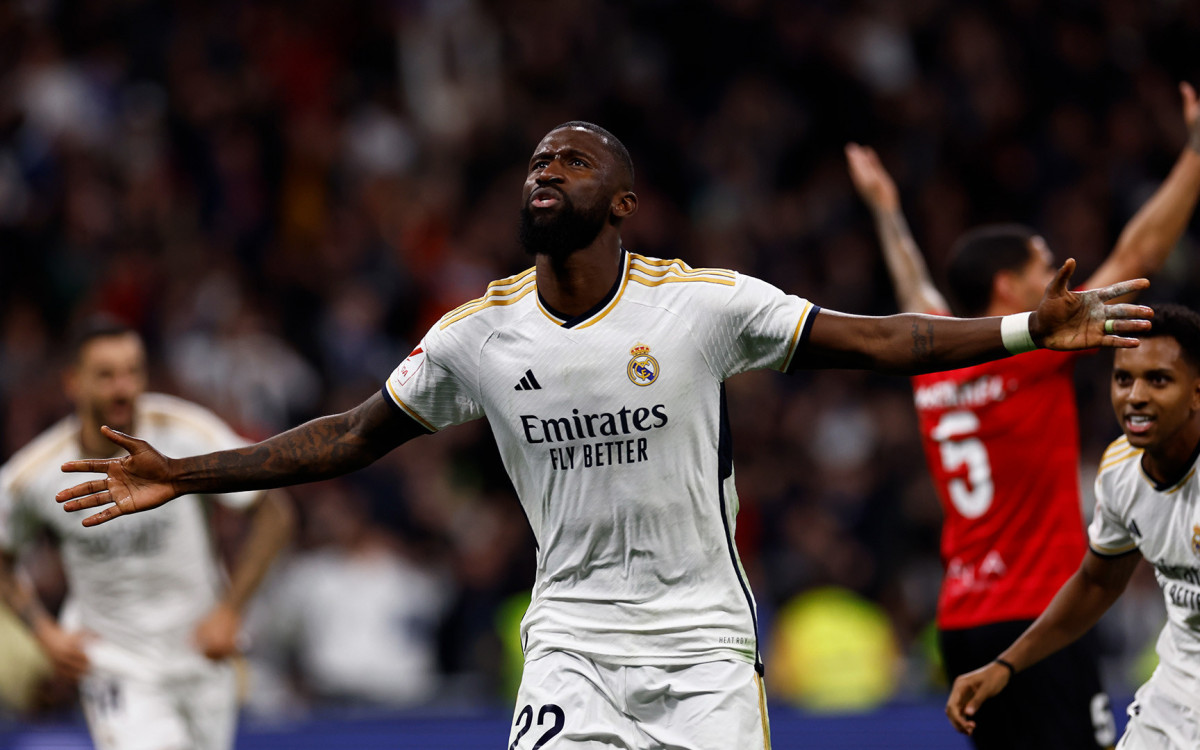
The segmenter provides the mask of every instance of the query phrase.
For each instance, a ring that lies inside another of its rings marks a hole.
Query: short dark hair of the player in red
[[[982,316],[991,304],[996,274],[1021,270],[1030,262],[1030,240],[1037,235],[1025,224],[988,224],[959,238],[946,269],[958,313],[968,318]]]

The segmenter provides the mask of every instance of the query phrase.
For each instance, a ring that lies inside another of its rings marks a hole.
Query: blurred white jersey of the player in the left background
[[[138,437],[167,456],[245,445],[211,412],[162,394],[144,394]],[[79,422],[62,419],[0,468],[0,547],[16,552],[38,527],[60,541],[68,595],[62,625],[98,636],[88,649],[96,666],[143,677],[188,670],[203,656],[192,635],[223,590],[202,498],[186,494],[154,512],[84,528],[54,496],[100,474],[64,474],[83,456]],[[258,492],[214,496],[246,508]]]

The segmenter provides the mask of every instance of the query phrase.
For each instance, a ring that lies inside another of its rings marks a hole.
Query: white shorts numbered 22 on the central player
[[[631,667],[554,652],[526,662],[508,748],[769,750],[762,678],[743,661]]]

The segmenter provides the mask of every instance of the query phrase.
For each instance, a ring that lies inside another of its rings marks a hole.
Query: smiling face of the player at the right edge
[[[1171,336],[1144,338],[1112,360],[1112,409],[1129,444],[1148,454],[1169,446],[1200,410],[1200,372]]]

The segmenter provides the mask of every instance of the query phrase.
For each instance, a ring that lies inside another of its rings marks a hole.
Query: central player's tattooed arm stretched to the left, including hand
[[[426,430],[376,394],[348,412],[314,419],[246,448],[203,456],[168,458],[145,440],[108,427],[103,432],[130,455],[64,463],[64,472],[97,472],[107,476],[55,496],[70,511],[112,503],[84,518],[84,526],[157,508],[181,494],[266,490],[340,476],[367,466]]]

